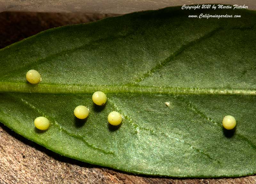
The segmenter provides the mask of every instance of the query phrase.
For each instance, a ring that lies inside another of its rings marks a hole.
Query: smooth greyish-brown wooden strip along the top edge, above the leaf
[[[238,4],[256,10],[255,0],[0,0],[0,12],[130,13],[183,4]]]

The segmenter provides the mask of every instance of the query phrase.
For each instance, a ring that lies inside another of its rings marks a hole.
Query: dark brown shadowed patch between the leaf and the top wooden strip
[[[116,14],[1,12],[0,49],[49,28],[100,20]]]

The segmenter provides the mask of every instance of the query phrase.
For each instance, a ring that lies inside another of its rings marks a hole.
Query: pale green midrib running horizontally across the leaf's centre
[[[0,92],[43,93],[43,94],[91,94],[95,91],[106,93],[145,94],[195,94],[195,95],[256,95],[255,89],[188,88],[140,85],[72,85],[72,84],[28,84],[0,82]]]

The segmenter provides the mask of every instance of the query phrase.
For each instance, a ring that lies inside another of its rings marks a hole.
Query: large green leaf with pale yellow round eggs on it
[[[200,13],[241,18],[188,18]],[[0,121],[60,155],[126,172],[255,174],[255,23],[253,11],[173,7],[44,31],[0,50]],[[26,82],[29,69],[39,84]],[[92,102],[98,90],[103,107]],[[77,105],[90,109],[85,121]],[[113,110],[121,126],[108,124]],[[226,115],[235,131],[223,130]],[[35,128],[38,116],[49,130]]]

